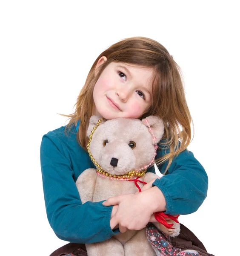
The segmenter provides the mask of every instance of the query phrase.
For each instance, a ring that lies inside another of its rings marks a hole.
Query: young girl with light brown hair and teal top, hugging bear
[[[45,134],[40,148],[46,212],[58,238],[99,242],[127,229],[142,229],[156,221],[157,211],[197,211],[207,195],[208,177],[187,150],[191,115],[180,68],[166,48],[144,37],[113,44],[97,57],[75,105],[73,114],[63,115],[70,117],[69,124]],[[141,193],[82,204],[75,182],[84,170],[95,168],[86,151],[92,115],[163,119],[165,133],[155,162],[165,175]]]

